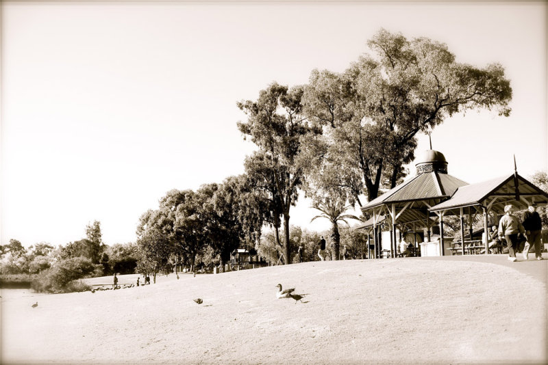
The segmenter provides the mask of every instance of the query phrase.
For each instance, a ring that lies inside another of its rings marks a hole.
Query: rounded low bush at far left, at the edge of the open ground
[[[88,258],[67,258],[44,271],[43,275],[32,281],[31,286],[42,293],[68,293],[74,287],[72,284],[69,285],[73,280],[85,278],[93,273],[95,268]]]

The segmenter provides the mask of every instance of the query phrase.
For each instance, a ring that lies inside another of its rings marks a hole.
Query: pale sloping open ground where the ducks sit
[[[547,261],[484,257],[306,262],[2,298],[1,361],[544,364]],[[302,301],[277,299],[277,283]]]

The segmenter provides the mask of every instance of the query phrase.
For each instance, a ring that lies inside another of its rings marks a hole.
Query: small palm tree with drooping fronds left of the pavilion
[[[331,230],[331,240],[333,244],[333,260],[338,260],[338,254],[339,254],[339,247],[340,247],[340,234],[338,232],[338,222],[343,221],[346,224],[348,224],[347,219],[357,219],[358,221],[360,218],[356,217],[356,215],[352,214],[345,214],[350,208],[352,208],[351,205],[345,205],[345,200],[340,199],[332,199],[329,197],[322,198],[319,202],[315,202],[312,205],[312,208],[317,209],[318,211],[321,211],[321,215],[316,215],[316,217],[312,218],[310,222],[314,221],[316,218],[325,218],[329,219],[329,221],[333,224],[332,230]]]

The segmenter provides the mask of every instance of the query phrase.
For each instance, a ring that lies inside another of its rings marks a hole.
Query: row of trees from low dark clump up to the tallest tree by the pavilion
[[[312,70],[305,85],[273,82],[256,100],[236,103],[247,117],[238,130],[258,147],[244,161],[245,174],[168,191],[139,219],[136,269],[154,275],[180,263],[222,265],[238,247],[265,252],[265,225],[281,262],[290,264],[297,250],[290,212],[301,192],[331,222],[338,259],[338,224],[359,219],[349,208],[401,182],[418,133],[471,109],[510,114],[512,88],[500,64],[456,62],[447,44],[385,29],[367,45],[343,72]],[[105,252],[87,240],[64,251],[86,251],[83,257],[102,265]]]

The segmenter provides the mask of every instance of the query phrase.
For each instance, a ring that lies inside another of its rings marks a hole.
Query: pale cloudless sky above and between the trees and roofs
[[[477,183],[548,169],[547,5],[270,1],[2,1],[1,243],[65,245],[101,222],[136,240],[171,189],[244,172],[255,146],[240,100],[273,81],[343,72],[381,27],[445,42],[457,62],[499,62],[512,114],[468,111],[432,133],[449,174]],[[429,148],[419,135],[416,154]],[[408,166],[414,176],[414,163]],[[290,223],[329,222],[301,198]]]

